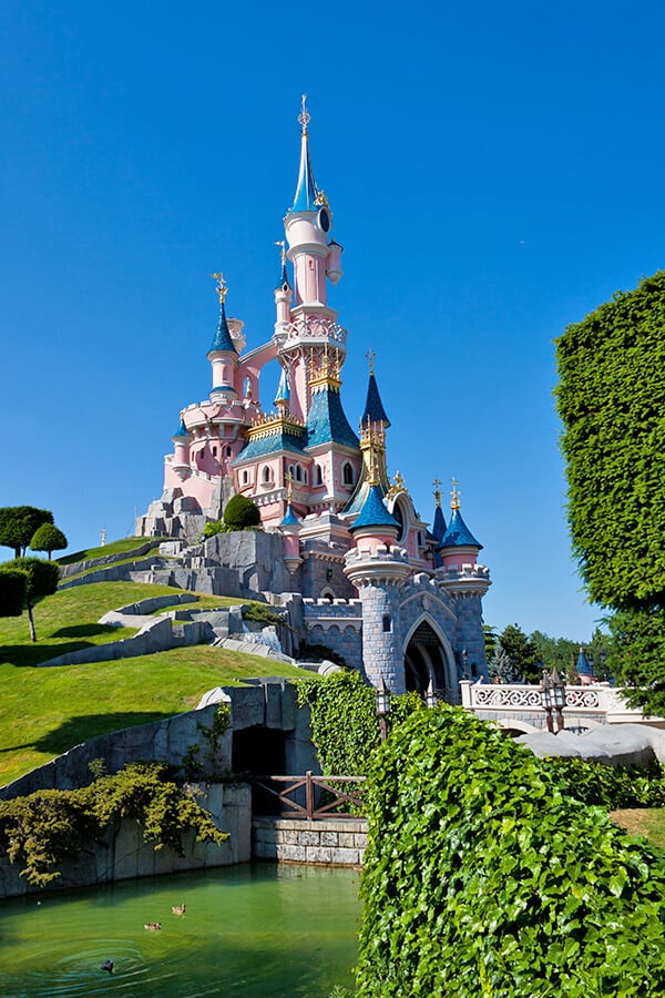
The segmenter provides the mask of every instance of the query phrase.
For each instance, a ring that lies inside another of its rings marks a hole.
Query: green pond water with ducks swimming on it
[[[0,902],[0,995],[328,998],[352,986],[358,882],[262,863]]]

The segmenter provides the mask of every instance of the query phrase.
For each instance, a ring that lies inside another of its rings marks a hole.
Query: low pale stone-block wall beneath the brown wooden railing
[[[252,856],[327,866],[360,866],[367,845],[367,818],[323,821],[254,817]]]

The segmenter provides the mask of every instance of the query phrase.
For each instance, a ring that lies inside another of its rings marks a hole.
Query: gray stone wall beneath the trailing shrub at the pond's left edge
[[[155,851],[154,843],[143,841],[137,822],[117,823],[99,844],[86,843],[81,853],[68,859],[51,889],[84,887],[134,877],[208,869],[246,863],[252,858],[252,790],[246,783],[201,784],[193,787],[197,803],[209,813],[215,825],[229,833],[221,846],[196,842],[193,832],[183,835],[184,856],[170,847]],[[20,866],[0,858],[0,897],[43,893],[20,876]],[[171,910],[164,913],[165,919]]]

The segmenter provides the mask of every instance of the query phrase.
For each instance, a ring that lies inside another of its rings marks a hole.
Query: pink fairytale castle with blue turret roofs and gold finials
[[[481,601],[489,572],[477,563],[481,544],[462,520],[457,487],[447,525],[437,482],[430,531],[399,473],[390,481],[390,421],[371,353],[359,434],[345,415],[347,330],[327,302],[327,282],[342,276],[342,247],[330,237],[332,212],[314,179],[305,98],[298,121],[300,165],[278,244],[274,333],[246,350],[243,323],[226,315],[226,282],[213,275],[213,387],[181,413],[164,493],[139,518],[137,532],[196,544],[231,496],[250,498],[280,546],[283,566],[267,587],[299,597],[308,643],[338,651],[393,693],[433,688],[456,702],[461,678],[487,675]],[[259,379],[275,359],[282,374],[267,414]]]

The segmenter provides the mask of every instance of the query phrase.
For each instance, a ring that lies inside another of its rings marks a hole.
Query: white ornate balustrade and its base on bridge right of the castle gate
[[[484,721],[516,731],[546,729],[546,715],[541,705],[540,688],[518,683],[460,682],[462,706]],[[631,707],[622,691],[604,683],[565,688],[563,709],[565,727],[570,730],[600,727],[602,724],[649,724],[665,727],[663,717],[645,717],[640,707]]]

